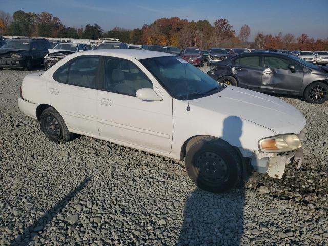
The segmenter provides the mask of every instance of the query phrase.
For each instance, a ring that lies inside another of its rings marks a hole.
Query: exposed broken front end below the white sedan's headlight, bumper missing
[[[297,134],[302,142],[305,139],[305,133],[306,129],[304,128],[300,134]],[[244,148],[239,148],[239,150],[244,158],[250,159],[250,164],[254,171],[267,173],[269,177],[277,179],[282,178],[286,165],[294,161],[297,169],[299,169],[303,160],[303,147],[284,153],[267,153]]]

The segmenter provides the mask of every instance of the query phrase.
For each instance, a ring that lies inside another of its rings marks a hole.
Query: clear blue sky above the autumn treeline
[[[328,0],[0,0],[0,10],[40,13],[59,17],[66,26],[80,27],[98,23],[104,31],[115,26],[133,29],[151,24],[161,17],[181,19],[226,18],[238,35],[248,24],[250,40],[258,31],[302,33],[314,38],[328,38]]]

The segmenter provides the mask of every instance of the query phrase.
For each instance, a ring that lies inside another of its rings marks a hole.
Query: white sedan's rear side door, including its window
[[[52,106],[75,131],[99,135],[99,56],[78,56],[61,66],[47,85]]]

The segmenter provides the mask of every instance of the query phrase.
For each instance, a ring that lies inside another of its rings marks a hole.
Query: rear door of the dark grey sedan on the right
[[[240,87],[273,92],[272,85],[262,84],[262,70],[260,55],[238,56],[232,66],[232,73],[237,77]]]

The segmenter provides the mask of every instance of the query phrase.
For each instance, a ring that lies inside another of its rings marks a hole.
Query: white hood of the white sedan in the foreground
[[[212,113],[237,116],[272,130],[277,134],[299,134],[306,119],[295,107],[273,96],[227,86],[219,93],[190,101],[193,106]]]

